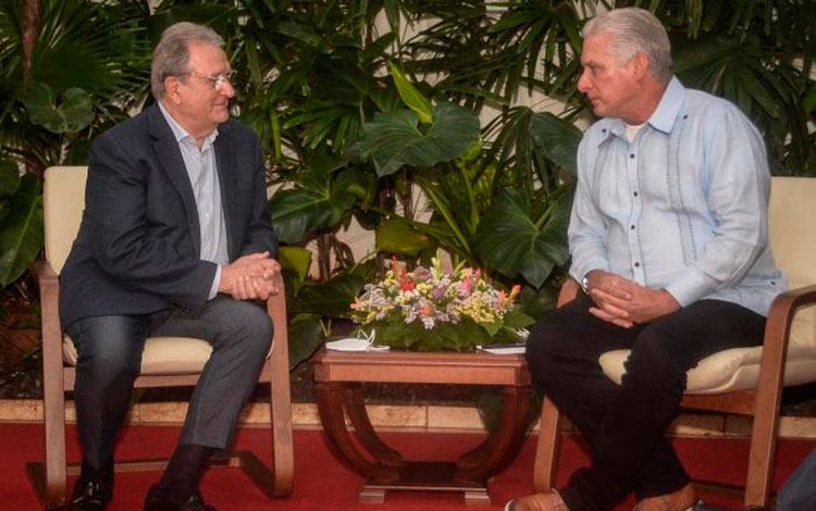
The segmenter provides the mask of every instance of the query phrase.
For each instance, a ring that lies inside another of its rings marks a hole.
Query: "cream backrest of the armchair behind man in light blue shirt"
[[[816,284],[816,179],[774,177],[768,223],[774,260],[791,289]],[[800,311],[791,344],[816,346],[816,308]]]

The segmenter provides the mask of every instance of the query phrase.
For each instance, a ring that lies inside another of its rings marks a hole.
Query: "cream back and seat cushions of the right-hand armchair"
[[[774,258],[791,289],[816,284],[816,179],[774,177],[768,209]],[[687,394],[721,394],[756,388],[762,347],[735,348],[714,353],[688,372]],[[598,362],[617,384],[626,373],[629,350],[608,351]],[[816,308],[793,319],[784,370],[784,385],[816,382]]]

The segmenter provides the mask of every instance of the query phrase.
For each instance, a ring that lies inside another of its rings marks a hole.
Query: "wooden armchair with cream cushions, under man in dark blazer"
[[[79,228],[85,207],[86,167],[51,167],[46,171],[44,213],[46,260],[36,265],[42,307],[42,390],[45,401],[46,460],[27,464],[38,495],[47,509],[65,502],[66,475],[77,475],[79,463],[65,462],[65,391],[74,388],[76,350],[63,336],[59,317],[59,274]],[[274,345],[259,376],[270,385],[272,469],[254,453],[235,452],[215,459],[211,466],[242,468],[269,497],[292,493],[294,453],[292,403],[289,395],[288,334],[283,279],[281,290],[267,302],[274,324]],[[210,357],[211,348],[202,339],[153,337],[145,346],[141,374],[135,387],[191,386]],[[114,470],[161,470],[168,460],[116,461]]]

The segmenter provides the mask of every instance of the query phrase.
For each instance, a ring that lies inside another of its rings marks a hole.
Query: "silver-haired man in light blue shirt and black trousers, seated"
[[[584,292],[536,325],[527,358],[592,461],[507,509],[606,511],[633,491],[636,511],[681,511],[694,488],[665,433],[685,372],[762,344],[787,287],[768,246],[767,157],[737,107],[672,75],[650,12],[601,14],[583,37],[579,89],[604,117],[578,150],[569,226],[570,284]],[[631,349],[620,386],[598,365],[614,349]]]

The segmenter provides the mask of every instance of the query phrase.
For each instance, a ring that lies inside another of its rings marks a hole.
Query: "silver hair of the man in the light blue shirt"
[[[609,52],[619,64],[643,52],[648,58],[652,76],[663,83],[671,79],[669,36],[663,23],[645,9],[614,9],[598,14],[586,22],[581,34],[584,39],[596,34],[611,34]]]

